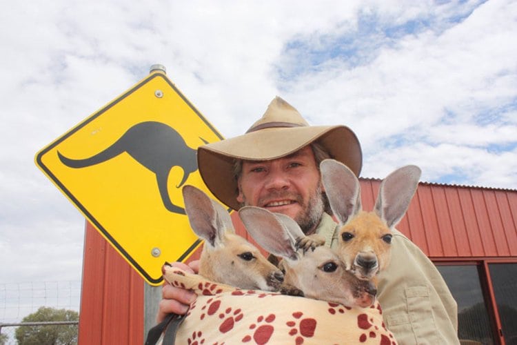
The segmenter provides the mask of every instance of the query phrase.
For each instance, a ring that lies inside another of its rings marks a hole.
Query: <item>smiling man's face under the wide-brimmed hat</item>
[[[294,219],[312,233],[323,213],[320,173],[314,153],[305,146],[270,161],[243,161],[237,201]]]

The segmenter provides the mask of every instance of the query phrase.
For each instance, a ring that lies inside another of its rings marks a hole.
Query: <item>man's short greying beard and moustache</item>
[[[312,195],[309,196],[309,200],[307,201],[307,204],[303,203],[303,199],[301,195],[294,194],[291,192],[276,192],[272,193],[270,195],[267,195],[266,198],[269,199],[282,199],[282,198],[288,198],[288,199],[294,199],[298,204],[302,206],[301,213],[296,215],[294,217],[294,221],[298,223],[298,226],[300,226],[301,230],[305,235],[310,235],[314,233],[317,224],[319,223],[321,219],[321,215],[323,215],[323,210],[325,209],[325,204],[323,202],[323,195],[321,193],[321,183],[318,184],[318,187],[314,191]],[[247,199],[245,195],[243,195],[243,206],[250,206],[248,204]],[[263,204],[261,200],[259,200],[259,205]]]

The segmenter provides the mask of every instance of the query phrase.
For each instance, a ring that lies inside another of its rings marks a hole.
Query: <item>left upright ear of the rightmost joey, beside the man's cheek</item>
[[[345,224],[362,209],[359,180],[345,164],[334,159],[323,159],[320,171],[330,208],[338,221]]]

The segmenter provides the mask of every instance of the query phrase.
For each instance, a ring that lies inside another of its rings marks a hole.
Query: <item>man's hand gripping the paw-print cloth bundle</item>
[[[190,262],[188,266],[182,262],[173,262],[171,266],[181,268],[188,273],[198,273],[199,260]],[[159,304],[158,314],[156,315],[156,323],[159,324],[162,322],[165,316],[170,313],[184,315],[196,297],[197,295],[192,291],[177,288],[176,286],[168,284],[168,282],[163,283],[161,288],[162,299]]]

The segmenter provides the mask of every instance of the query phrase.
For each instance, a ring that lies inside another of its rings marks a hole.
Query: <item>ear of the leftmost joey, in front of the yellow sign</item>
[[[215,201],[199,188],[190,185],[184,186],[182,193],[185,213],[194,233],[212,247],[220,244],[225,231],[222,224],[225,221],[219,219],[221,217],[218,217]]]

